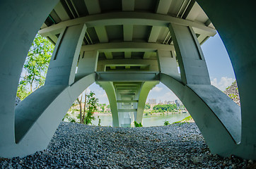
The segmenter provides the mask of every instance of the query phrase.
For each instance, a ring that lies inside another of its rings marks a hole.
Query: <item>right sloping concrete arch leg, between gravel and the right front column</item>
[[[161,82],[186,106],[212,154],[236,154],[241,139],[240,107],[212,85],[184,85],[170,75]]]

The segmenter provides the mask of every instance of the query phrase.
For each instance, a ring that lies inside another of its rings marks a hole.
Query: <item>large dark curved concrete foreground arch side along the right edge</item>
[[[197,2],[218,30],[238,82],[243,121],[242,139],[235,155],[256,160],[255,6],[221,0]]]

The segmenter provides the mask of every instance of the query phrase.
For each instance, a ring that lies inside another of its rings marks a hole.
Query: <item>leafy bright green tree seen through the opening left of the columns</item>
[[[28,96],[45,83],[45,76],[53,50],[54,45],[46,37],[38,34],[35,36],[23,65],[25,75],[21,77],[18,86],[18,97],[25,99],[25,96]]]

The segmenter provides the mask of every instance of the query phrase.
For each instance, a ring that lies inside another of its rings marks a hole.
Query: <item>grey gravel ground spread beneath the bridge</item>
[[[194,123],[98,127],[62,122],[47,150],[0,159],[0,168],[254,168],[253,161],[211,155]]]

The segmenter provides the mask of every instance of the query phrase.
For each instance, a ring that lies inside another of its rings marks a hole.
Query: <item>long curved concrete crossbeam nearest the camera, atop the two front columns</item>
[[[216,30],[206,27],[204,24],[175,18],[170,15],[161,15],[154,13],[137,13],[137,12],[120,12],[120,13],[103,13],[97,15],[88,15],[73,20],[67,20],[57,23],[50,27],[46,27],[39,31],[40,35],[47,36],[48,33],[54,31],[60,32],[63,27],[86,23],[87,27],[97,27],[106,25],[151,25],[159,27],[168,27],[169,23],[177,25],[190,26],[194,28],[197,34],[208,36],[216,35]]]

